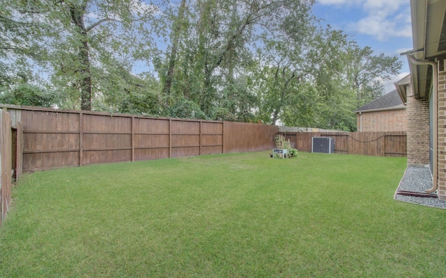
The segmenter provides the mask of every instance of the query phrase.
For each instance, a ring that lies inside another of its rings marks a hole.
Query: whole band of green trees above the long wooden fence
[[[312,0],[9,2],[3,103],[353,131],[401,68]]]

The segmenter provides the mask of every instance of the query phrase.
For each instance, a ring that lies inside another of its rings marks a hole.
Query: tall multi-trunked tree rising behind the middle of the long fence
[[[162,70],[169,67],[159,67],[160,76],[172,77],[177,87],[171,89],[199,104],[208,116],[212,116],[216,108],[224,108],[222,106],[230,113],[246,112],[247,108],[243,107],[229,108],[227,99],[237,99],[240,92],[247,92],[237,86],[243,84],[245,67],[252,60],[249,52],[255,44],[261,43],[260,35],[267,33],[273,37],[285,19],[301,18],[312,3],[300,0],[192,1],[190,13],[184,19],[188,28],[176,44],[181,57],[176,60],[178,69],[171,75],[170,70]],[[169,61],[166,59],[166,63]],[[240,82],[236,81],[238,77]],[[240,101],[233,101],[236,103]]]

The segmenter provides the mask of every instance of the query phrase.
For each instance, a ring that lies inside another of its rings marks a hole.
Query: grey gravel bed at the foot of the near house
[[[426,167],[414,167],[408,166],[404,173],[403,179],[401,179],[397,192],[400,190],[413,191],[419,193],[426,193],[425,191],[432,188],[432,176],[429,170],[429,165]],[[423,206],[432,206],[434,208],[446,209],[446,201],[426,198],[426,197],[413,197],[397,195],[395,192],[394,199],[409,202],[413,204],[421,204]]]

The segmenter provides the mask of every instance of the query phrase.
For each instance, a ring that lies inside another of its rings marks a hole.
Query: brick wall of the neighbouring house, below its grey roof
[[[357,131],[406,131],[406,109],[357,113]]]

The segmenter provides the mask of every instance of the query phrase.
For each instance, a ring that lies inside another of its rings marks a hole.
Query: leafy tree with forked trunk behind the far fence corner
[[[309,119],[312,106],[302,104],[302,101],[314,90],[307,90],[305,84],[311,83],[323,67],[328,45],[325,44],[328,32],[316,28],[310,15],[289,18],[284,23],[282,32],[274,38],[264,38],[263,48],[259,49],[260,63],[265,65],[259,76],[262,82],[258,90],[261,98],[259,113],[263,122],[270,124],[276,124],[279,119],[290,122],[286,119],[290,116],[289,111]],[[291,106],[293,108],[289,108]],[[298,107],[302,110],[296,111]],[[313,110],[315,108],[313,106]]]

